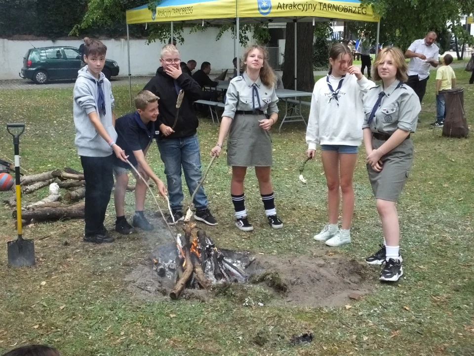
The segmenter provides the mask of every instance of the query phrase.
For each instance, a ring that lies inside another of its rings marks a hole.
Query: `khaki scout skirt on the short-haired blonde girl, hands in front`
[[[385,143],[372,138],[372,147],[377,149]],[[375,172],[367,164],[370,184],[376,199],[396,202],[413,163],[413,141],[405,139],[392,151],[382,157],[382,171]]]

